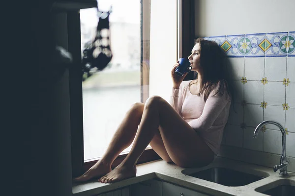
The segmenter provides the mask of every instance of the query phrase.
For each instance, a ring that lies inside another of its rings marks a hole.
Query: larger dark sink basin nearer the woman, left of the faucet
[[[227,168],[210,168],[187,175],[230,187],[244,186],[264,178]]]

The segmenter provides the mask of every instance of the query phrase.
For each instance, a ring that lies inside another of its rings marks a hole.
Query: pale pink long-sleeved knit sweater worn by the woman
[[[169,103],[217,155],[231,101],[226,93],[223,96],[212,96],[215,89],[205,102],[203,95],[191,94],[188,86],[191,81],[183,81],[179,89],[173,89]]]

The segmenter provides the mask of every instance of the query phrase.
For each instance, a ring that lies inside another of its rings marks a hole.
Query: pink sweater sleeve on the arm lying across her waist
[[[188,124],[195,131],[206,131],[209,129],[230,101],[227,99],[226,94],[227,93],[224,93],[222,96],[209,96],[205,103],[202,115],[198,119],[188,122]]]

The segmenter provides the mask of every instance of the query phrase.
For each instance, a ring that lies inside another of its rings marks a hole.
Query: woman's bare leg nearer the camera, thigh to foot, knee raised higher
[[[99,179],[102,183],[117,182],[136,175],[136,162],[160,127],[160,134],[169,157],[177,165],[207,165],[214,153],[202,138],[176,111],[160,97],[148,99],[134,145],[124,161]]]

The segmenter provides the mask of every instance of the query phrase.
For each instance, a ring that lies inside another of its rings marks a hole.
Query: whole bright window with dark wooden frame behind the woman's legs
[[[85,172],[103,155],[132,103],[145,102],[151,95],[159,95],[166,100],[169,98],[172,88],[170,71],[178,58],[178,1],[129,0],[126,3],[122,0],[98,0],[101,11],[108,11],[112,6],[110,31],[113,58],[105,70],[93,74],[83,84],[81,78],[77,79],[79,70],[70,70],[73,176]],[[77,28],[76,21],[80,20],[79,39],[78,34],[71,35],[75,32],[69,31],[69,40],[76,42],[78,39],[81,46],[79,52],[76,48],[75,52],[70,49],[78,43],[69,46],[69,50],[77,56],[79,53],[81,57],[85,44],[94,36],[98,22],[96,11],[96,8],[90,8],[80,10],[78,15],[68,15],[68,28]],[[184,44],[187,43],[181,43]],[[77,89],[78,86],[80,89]],[[123,160],[130,148],[119,155],[113,167]],[[158,158],[148,147],[138,163]]]

